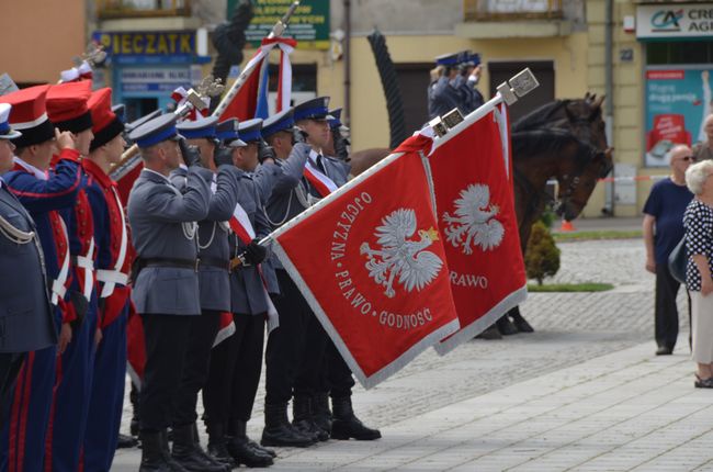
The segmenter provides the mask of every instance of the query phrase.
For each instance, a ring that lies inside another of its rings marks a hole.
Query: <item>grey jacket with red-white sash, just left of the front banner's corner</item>
[[[250,176],[244,176],[238,203],[248,214],[254,229],[256,238],[262,239],[270,234],[270,225],[264,215],[260,193]],[[230,235],[230,257],[238,257],[247,245],[235,234]],[[263,269],[264,270],[264,269]],[[230,274],[230,312],[258,315],[268,311],[264,288],[256,266],[240,266]]]

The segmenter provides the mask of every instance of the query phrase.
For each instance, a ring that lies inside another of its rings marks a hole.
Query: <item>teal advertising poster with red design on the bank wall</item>
[[[706,141],[705,116],[713,112],[713,67],[646,71],[647,167],[668,167],[667,153],[676,144]]]

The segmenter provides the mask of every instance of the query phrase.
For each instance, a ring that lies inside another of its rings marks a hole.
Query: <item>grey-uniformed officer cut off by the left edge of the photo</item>
[[[11,105],[0,103],[0,175],[12,169]],[[18,270],[18,269],[21,270]],[[0,177],[0,426],[25,355],[57,342],[35,223]]]

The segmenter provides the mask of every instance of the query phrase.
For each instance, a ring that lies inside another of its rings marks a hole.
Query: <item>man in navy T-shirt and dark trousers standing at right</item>
[[[693,198],[684,178],[686,169],[694,160],[691,148],[675,146],[669,157],[671,177],[652,187],[644,205],[646,270],[656,274],[657,356],[670,355],[678,338],[676,295],[680,283],[668,270],[668,256],[683,237],[683,212]]]

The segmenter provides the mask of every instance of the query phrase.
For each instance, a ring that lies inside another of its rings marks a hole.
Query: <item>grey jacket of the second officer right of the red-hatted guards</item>
[[[171,172],[170,180],[183,193],[186,188],[188,170],[183,168]],[[211,195],[208,216],[199,222],[199,258],[229,261],[227,224],[238,201],[239,179],[242,171],[235,166],[220,166],[215,176],[215,193]],[[206,182],[213,183],[213,173]],[[199,288],[201,310],[230,311],[230,285],[227,269],[212,266],[213,260],[199,266]]]

